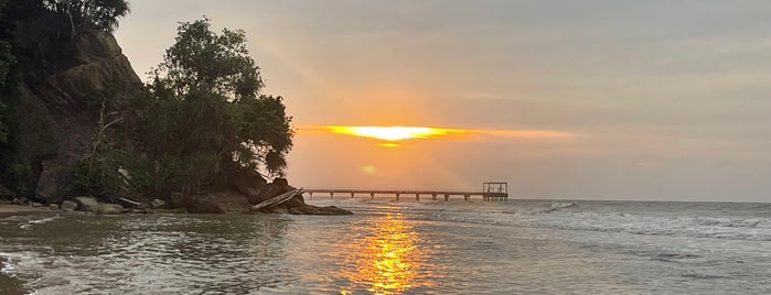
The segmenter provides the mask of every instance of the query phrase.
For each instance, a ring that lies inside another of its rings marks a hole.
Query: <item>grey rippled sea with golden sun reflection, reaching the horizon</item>
[[[315,198],[0,216],[4,294],[771,294],[771,204]]]

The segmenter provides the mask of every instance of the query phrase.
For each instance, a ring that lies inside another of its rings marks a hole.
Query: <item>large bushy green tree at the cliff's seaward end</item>
[[[183,22],[151,73],[122,132],[151,160],[156,192],[197,192],[227,183],[233,170],[280,175],[292,145],[281,97],[261,95],[259,67],[243,31],[211,31],[210,20]]]

